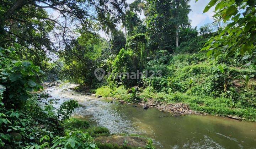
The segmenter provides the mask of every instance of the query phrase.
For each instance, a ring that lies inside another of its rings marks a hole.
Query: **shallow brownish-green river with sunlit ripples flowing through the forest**
[[[72,85],[64,88],[72,87]],[[74,87],[74,86],[73,86]],[[256,123],[219,116],[186,115],[174,117],[158,109],[119,104],[73,90],[49,87],[47,92],[59,104],[74,99],[81,105],[74,116],[111,133],[140,134],[153,139],[156,148],[256,148]],[[108,103],[109,102],[109,103]]]

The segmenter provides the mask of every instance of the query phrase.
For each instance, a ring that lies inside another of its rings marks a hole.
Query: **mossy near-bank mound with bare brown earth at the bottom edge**
[[[91,126],[83,119],[71,117],[63,122],[65,133],[82,131],[88,133],[100,149],[154,149],[150,138],[136,134],[110,134],[106,127]]]

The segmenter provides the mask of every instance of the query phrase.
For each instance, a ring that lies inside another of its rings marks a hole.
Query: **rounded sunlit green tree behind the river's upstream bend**
[[[82,32],[78,39],[71,42],[70,47],[60,53],[65,76],[71,81],[92,85],[94,70],[102,62],[102,51],[108,47],[106,40],[96,33]]]

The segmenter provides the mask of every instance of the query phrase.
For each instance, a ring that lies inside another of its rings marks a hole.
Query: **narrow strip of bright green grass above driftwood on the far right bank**
[[[140,98],[154,99],[161,103],[186,103],[192,110],[205,112],[211,115],[228,116],[234,115],[246,118],[248,121],[256,121],[256,109],[254,107],[234,107],[232,99],[224,97],[200,97],[187,95],[186,93],[164,93],[154,92],[151,87],[140,93]]]

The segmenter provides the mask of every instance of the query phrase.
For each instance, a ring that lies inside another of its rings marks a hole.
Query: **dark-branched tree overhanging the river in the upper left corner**
[[[123,16],[119,12],[124,6],[124,0],[2,0],[0,45],[22,46],[19,49],[24,49],[23,53],[30,50],[46,66],[46,61],[50,60],[46,53],[70,46],[77,38],[70,34],[75,34],[76,29],[94,29],[96,12],[110,13],[120,20]],[[50,17],[46,9],[59,13],[59,16]]]

